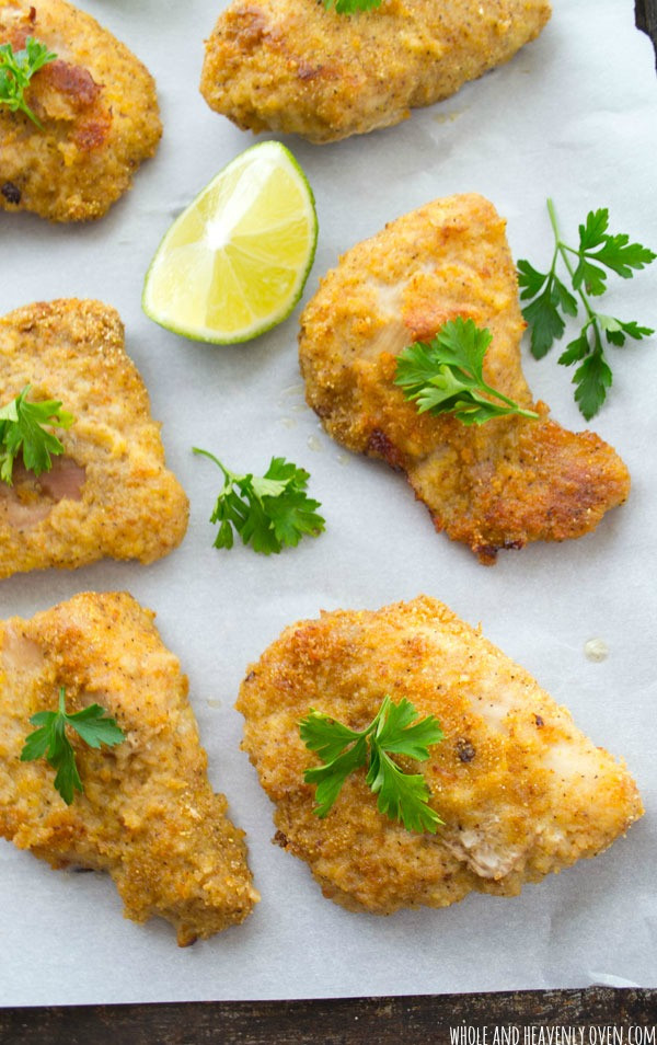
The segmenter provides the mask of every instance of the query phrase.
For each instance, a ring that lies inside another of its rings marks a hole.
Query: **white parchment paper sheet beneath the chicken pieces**
[[[485,0],[484,0],[485,2]],[[207,36],[221,3],[85,0],[157,78],[164,138],[132,192],[94,225],[50,226],[0,215],[2,312],[35,299],[97,297],[126,324],[128,351],[163,422],[170,466],[189,494],[187,537],[149,567],[103,562],[0,585],[0,615],[31,616],[80,590],[128,589],[158,613],[182,658],[210,777],[247,831],[262,902],[247,921],[187,950],[159,920],[122,918],[112,882],[55,873],[0,842],[0,1003],[55,1004],[303,998],[522,988],[656,986],[654,896],[657,440],[655,340],[610,349],[614,387],[591,427],[633,476],[629,503],[599,530],[562,546],[500,553],[485,569],[437,536],[426,509],[383,466],[333,444],[303,404],[298,311],[239,347],[193,344],[140,310],[143,274],[173,217],[254,140],[198,94]],[[341,252],[385,221],[453,192],[487,195],[508,218],[516,257],[549,264],[545,197],[563,228],[609,206],[613,231],[657,246],[657,90],[650,44],[632,0],[554,0],[542,36],[453,99],[366,137],[314,147],[284,139],[313,186],[320,239],[304,299]],[[614,280],[608,311],[657,326],[655,271]],[[556,352],[523,347],[537,397],[585,427]],[[207,519],[218,473],[198,445],[235,469],[273,453],[312,473],[326,532],[266,559],[212,549]],[[324,900],[306,865],[270,845],[272,809],[239,750],[233,709],[246,665],[292,620],[321,608],[374,608],[426,592],[531,670],[597,743],[623,756],[646,816],[593,861],[514,899],[473,895],[447,910],[390,918]],[[601,639],[609,656],[585,655]]]

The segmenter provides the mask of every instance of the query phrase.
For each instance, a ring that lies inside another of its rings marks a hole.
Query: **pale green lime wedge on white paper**
[[[303,171],[280,142],[260,142],[173,222],[146,275],[143,311],[194,341],[250,341],[295,308],[316,240]]]

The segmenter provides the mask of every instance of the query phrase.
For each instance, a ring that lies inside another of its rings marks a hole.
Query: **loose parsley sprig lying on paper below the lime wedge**
[[[223,467],[207,450],[193,447],[195,453],[209,457],[223,472],[223,486],[210,522],[218,522],[215,548],[232,548],[234,533],[243,544],[264,555],[278,554],[284,547],[296,548],[304,535],[316,537],[325,520],[321,507],[306,493],[310,474],[284,457],[273,457],[263,476],[238,475]]]

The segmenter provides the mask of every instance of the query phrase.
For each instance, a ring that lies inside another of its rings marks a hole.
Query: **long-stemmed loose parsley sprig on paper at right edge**
[[[575,400],[586,420],[590,421],[607,399],[607,390],[612,383],[603,337],[610,345],[622,347],[627,337],[641,341],[655,333],[648,326],[639,326],[635,320],[627,322],[598,312],[590,298],[600,297],[607,290],[606,269],[622,279],[632,279],[634,272],[649,265],[657,254],[641,243],[631,243],[624,232],[618,236],[608,232],[607,208],[588,213],[585,223],[579,226],[577,248],[563,241],[552,199],[548,200],[548,213],[554,233],[549,272],[539,272],[526,260],[518,262],[520,298],[529,302],[522,314],[531,329],[531,353],[541,359],[553,343],[562,338],[566,329],[564,317],[578,314],[579,298],[586,318],[579,334],[566,345],[558,361],[562,366],[579,364],[573,377],[573,383],[577,386]],[[574,294],[556,274],[560,259]]]

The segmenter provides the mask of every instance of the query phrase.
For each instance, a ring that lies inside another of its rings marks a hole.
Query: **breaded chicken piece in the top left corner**
[[[53,221],[100,218],[153,156],[162,126],[152,77],[95,19],[65,0],[0,0],[0,44],[32,36],[57,60],[25,101],[43,125],[0,106],[0,207]]]

